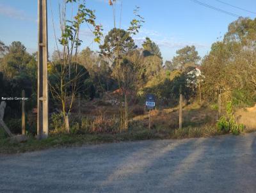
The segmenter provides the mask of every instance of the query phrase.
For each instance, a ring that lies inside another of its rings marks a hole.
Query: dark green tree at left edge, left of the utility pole
[[[36,105],[36,59],[26,52],[26,47],[21,42],[12,42],[4,51],[0,59],[0,97],[21,97],[24,89],[26,97],[26,111]],[[7,102],[5,116],[14,118],[20,115],[21,105],[19,100]]]

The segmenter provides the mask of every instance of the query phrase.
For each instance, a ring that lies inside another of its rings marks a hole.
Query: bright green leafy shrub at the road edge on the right
[[[244,130],[244,125],[241,123],[236,123],[233,105],[232,102],[227,103],[227,117],[222,116],[220,120],[217,122],[217,127],[219,130],[223,130],[225,132],[231,132],[234,135],[238,135]]]

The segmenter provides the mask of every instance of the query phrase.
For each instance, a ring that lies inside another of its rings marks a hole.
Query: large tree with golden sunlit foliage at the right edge
[[[256,20],[239,18],[228,26],[223,41],[212,44],[202,61],[204,96],[214,101],[222,92],[223,102],[248,104],[255,101]]]

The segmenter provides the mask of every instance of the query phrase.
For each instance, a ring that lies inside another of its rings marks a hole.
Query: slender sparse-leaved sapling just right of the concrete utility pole
[[[67,3],[72,2],[76,3],[76,0],[65,1],[63,7],[65,8]],[[57,50],[61,60],[60,63],[51,63],[52,75],[57,81],[54,84],[50,84],[50,88],[52,96],[61,104],[65,129],[69,132],[68,116],[72,109],[74,98],[81,92],[81,85],[83,84],[79,82],[83,82],[83,77],[87,73],[78,63],[78,48],[82,42],[79,38],[79,31],[84,23],[93,26],[95,42],[100,42],[102,28],[95,24],[95,14],[86,7],[85,1],[78,3],[77,13],[72,20],[67,20],[66,15],[66,9],[63,9],[60,13],[61,37],[58,39],[62,50],[61,52],[59,49]]]

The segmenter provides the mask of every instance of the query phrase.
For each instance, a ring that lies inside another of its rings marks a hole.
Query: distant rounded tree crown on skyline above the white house
[[[198,56],[198,52],[194,45],[186,46],[180,50],[177,50],[176,54],[178,56],[173,57],[172,63],[175,68],[184,68],[184,65],[191,63],[196,65],[200,60],[200,56]]]

